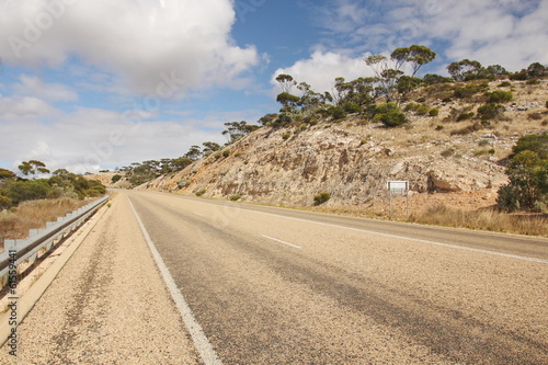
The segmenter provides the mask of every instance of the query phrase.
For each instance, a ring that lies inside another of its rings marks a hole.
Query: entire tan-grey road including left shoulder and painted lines
[[[547,364],[547,239],[122,191],[18,361]]]

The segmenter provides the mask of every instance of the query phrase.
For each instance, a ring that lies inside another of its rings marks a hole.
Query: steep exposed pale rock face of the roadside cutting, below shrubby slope
[[[386,198],[389,180],[409,180],[419,193],[495,190],[506,182],[504,168],[489,160],[441,157],[445,146],[398,148],[398,142],[363,139],[358,127],[318,125],[287,140],[284,132],[260,129],[231,146],[227,158],[212,156],[140,189],[237,194],[284,205],[311,205],[313,195],[329,192],[328,204],[361,205]]]

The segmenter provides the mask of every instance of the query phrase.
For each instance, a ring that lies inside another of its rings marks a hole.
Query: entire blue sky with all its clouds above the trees
[[[279,73],[332,91],[413,44],[422,75],[548,65],[548,0],[0,0],[0,168],[181,157],[276,113]]]

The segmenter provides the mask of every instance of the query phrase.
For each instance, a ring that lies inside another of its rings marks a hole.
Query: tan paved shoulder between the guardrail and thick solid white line
[[[121,194],[18,328],[2,364],[198,364]]]

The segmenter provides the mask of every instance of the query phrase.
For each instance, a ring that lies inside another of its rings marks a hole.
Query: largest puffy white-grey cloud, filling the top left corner
[[[125,91],[153,93],[162,73],[176,76],[181,93],[241,87],[239,76],[259,61],[254,47],[230,38],[230,0],[26,0],[0,10],[8,65],[59,66],[76,55]]]

